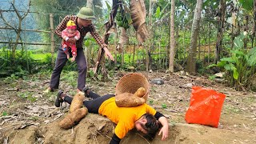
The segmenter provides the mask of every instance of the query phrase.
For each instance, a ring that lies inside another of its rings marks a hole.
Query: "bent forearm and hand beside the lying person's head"
[[[163,114],[161,114],[159,112],[154,114],[154,117],[157,118],[158,121],[162,124],[162,128],[161,128],[158,135],[162,134],[162,140],[165,140],[166,138],[168,138],[168,133],[169,133],[168,120]]]

